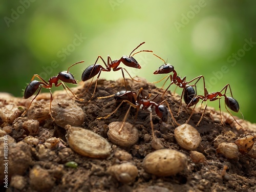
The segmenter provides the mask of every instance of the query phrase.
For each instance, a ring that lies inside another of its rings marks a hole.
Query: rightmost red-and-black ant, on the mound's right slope
[[[226,96],[226,92],[227,92],[227,89],[229,88],[230,90],[230,93],[231,93],[231,97],[227,97]],[[224,91],[225,90],[225,91]],[[224,91],[224,94],[222,94],[221,92]],[[219,96],[219,97],[218,97]],[[234,118],[234,116],[230,113],[230,111],[227,109],[227,106],[230,110],[234,111],[234,112],[239,112],[239,103],[236,99],[233,98],[233,95],[232,95],[232,92],[231,92],[231,88],[230,88],[230,85],[229,84],[226,84],[226,86],[219,92],[212,92],[212,93],[208,93],[207,89],[204,88],[204,96],[203,95],[197,95],[194,88],[192,86],[188,86],[185,91],[184,91],[184,101],[185,103],[187,104],[187,107],[189,106],[194,106],[194,109],[192,111],[192,113],[190,114],[189,118],[187,119],[186,123],[190,120],[191,116],[193,115],[194,113],[194,110],[196,108],[196,104],[199,102],[199,100],[201,99],[202,100],[202,103],[203,101],[206,102],[205,104],[205,107],[204,107],[204,110],[203,110],[203,113],[202,113],[202,116],[200,118],[200,120],[198,121],[198,123],[196,124],[196,126],[199,125],[199,123],[201,122],[202,118],[203,118],[203,115],[204,115],[204,112],[206,110],[206,107],[207,107],[207,100],[209,101],[215,101],[217,99],[219,99],[219,109],[220,109],[220,115],[221,115],[221,103],[220,103],[220,99],[221,97],[224,97],[225,98],[225,108],[226,110],[228,111],[228,113],[233,117],[234,121],[237,122],[237,120]],[[241,113],[241,112],[240,112]],[[241,113],[241,115],[243,116],[243,114]],[[221,116],[221,123],[223,124],[223,121],[222,121],[222,116]],[[238,123],[238,122],[237,122]],[[239,124],[239,123],[238,123]],[[239,124],[240,125],[240,124]],[[242,127],[242,125],[240,125]]]

